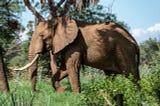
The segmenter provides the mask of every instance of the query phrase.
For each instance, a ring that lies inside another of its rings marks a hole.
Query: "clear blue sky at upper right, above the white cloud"
[[[100,0],[105,6],[113,0]],[[147,28],[160,22],[160,0],[115,0],[112,12],[131,28]]]

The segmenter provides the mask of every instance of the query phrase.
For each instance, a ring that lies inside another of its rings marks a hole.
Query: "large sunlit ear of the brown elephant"
[[[78,27],[75,20],[70,18],[58,18],[58,24],[53,38],[54,53],[61,51],[67,45],[72,43],[77,35]]]

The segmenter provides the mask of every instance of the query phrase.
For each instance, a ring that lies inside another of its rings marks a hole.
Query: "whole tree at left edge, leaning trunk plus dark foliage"
[[[16,19],[16,13],[22,10],[19,3],[18,0],[0,1],[0,90],[2,91],[9,91],[3,54],[7,51],[8,44],[17,37],[15,35],[20,28],[20,23]]]

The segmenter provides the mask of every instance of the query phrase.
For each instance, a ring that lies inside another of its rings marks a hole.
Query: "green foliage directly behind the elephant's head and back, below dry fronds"
[[[46,18],[50,13],[48,5],[44,5],[43,8],[41,8],[41,4],[39,2],[35,3],[35,6],[38,9],[40,9],[42,15]],[[60,11],[62,8],[58,8],[56,11],[56,15],[60,16]],[[107,11],[108,10],[108,11]],[[109,12],[110,8],[109,7],[104,7],[103,5],[90,5],[87,6],[87,8],[82,9],[81,11],[77,11],[74,8],[70,8],[68,11],[67,16],[87,22],[87,23],[102,23],[102,22],[109,22],[109,21],[114,21],[118,24],[120,24],[122,27],[125,29],[129,30],[129,26],[124,22],[124,21],[119,21],[117,19],[117,16],[114,13]]]

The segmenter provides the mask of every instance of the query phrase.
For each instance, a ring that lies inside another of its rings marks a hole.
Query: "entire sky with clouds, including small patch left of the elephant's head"
[[[112,13],[127,23],[138,43],[151,37],[160,39],[160,0],[100,0],[99,3],[105,7],[113,3]],[[31,19],[34,16],[30,11],[22,14],[24,25]]]

